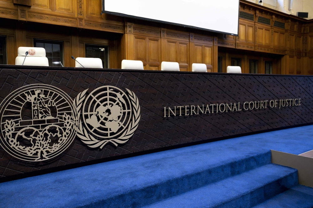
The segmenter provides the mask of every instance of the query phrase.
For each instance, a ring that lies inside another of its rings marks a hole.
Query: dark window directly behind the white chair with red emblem
[[[61,62],[64,66],[63,42],[34,39],[34,46],[44,48],[46,50],[46,57],[48,58],[49,66],[61,67],[61,64],[52,62]]]

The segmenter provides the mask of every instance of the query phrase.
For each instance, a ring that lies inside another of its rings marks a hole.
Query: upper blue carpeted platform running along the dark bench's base
[[[141,207],[313,149],[313,126],[110,161],[0,184],[0,207]]]

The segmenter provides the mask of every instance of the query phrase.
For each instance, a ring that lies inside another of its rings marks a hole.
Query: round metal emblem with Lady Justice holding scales
[[[62,153],[77,133],[71,98],[44,84],[21,87],[1,104],[1,146],[25,161],[44,161]]]

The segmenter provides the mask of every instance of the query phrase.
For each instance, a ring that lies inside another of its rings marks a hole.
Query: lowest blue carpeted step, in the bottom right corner
[[[254,206],[254,208],[311,208],[313,207],[313,188],[295,186],[291,189]]]

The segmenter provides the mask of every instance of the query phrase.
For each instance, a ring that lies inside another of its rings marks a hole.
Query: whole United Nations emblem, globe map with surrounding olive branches
[[[102,148],[108,142],[123,144],[134,134],[140,120],[140,106],[134,92],[113,86],[92,91],[85,99],[77,136],[89,147]],[[84,99],[84,92],[77,99]],[[80,106],[77,107],[80,109]]]

